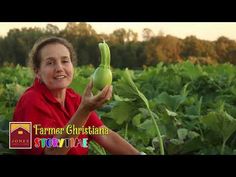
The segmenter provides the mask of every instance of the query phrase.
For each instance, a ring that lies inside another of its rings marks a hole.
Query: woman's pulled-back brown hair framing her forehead
[[[33,71],[36,71],[37,69],[40,68],[41,64],[41,58],[40,58],[40,50],[48,45],[48,44],[53,44],[53,43],[59,43],[64,45],[70,52],[70,58],[71,62],[73,63],[74,66],[77,64],[77,57],[75,50],[70,42],[68,42],[66,39],[61,38],[61,37],[56,37],[56,36],[49,36],[49,37],[42,37],[39,38],[33,48],[31,49],[29,53],[29,66],[33,69]]]

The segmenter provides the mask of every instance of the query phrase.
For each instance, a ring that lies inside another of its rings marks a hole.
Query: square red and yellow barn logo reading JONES
[[[32,148],[32,123],[9,122],[9,149]]]

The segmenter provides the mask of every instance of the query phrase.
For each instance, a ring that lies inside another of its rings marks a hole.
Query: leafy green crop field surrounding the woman
[[[82,94],[94,72],[75,69],[70,85]],[[231,64],[159,63],[142,70],[111,69],[113,97],[97,113],[139,151],[150,155],[236,154],[236,67]],[[8,123],[33,82],[29,68],[0,68],[0,154],[8,149]],[[96,143],[89,154],[109,154]]]

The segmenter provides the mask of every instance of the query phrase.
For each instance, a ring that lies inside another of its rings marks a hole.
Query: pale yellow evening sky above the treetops
[[[87,22],[97,33],[110,34],[119,28],[131,29],[138,33],[138,39],[142,40],[144,28],[151,29],[155,35],[161,31],[164,35],[172,35],[184,39],[194,35],[198,39],[209,41],[217,40],[220,36],[236,40],[236,22]],[[41,27],[53,24],[64,29],[67,22],[0,22],[0,36],[6,36],[13,28]]]

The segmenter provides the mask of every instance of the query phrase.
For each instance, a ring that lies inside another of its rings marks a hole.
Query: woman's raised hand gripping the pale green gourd
[[[112,97],[111,85],[105,86],[102,89],[102,91],[100,91],[95,96],[92,93],[92,89],[93,89],[93,82],[91,80],[84,91],[80,104],[80,108],[88,113],[102,107],[102,105],[107,101],[109,101]]]

